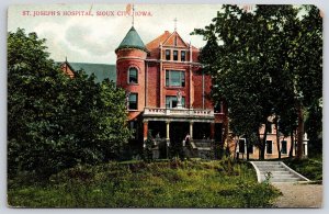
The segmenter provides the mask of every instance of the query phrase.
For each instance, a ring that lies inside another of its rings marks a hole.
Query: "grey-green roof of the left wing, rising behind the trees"
[[[101,82],[104,79],[110,79],[116,82],[116,67],[107,64],[86,64],[86,63],[68,63],[65,61],[73,71],[83,70],[87,75],[94,74],[95,81]]]

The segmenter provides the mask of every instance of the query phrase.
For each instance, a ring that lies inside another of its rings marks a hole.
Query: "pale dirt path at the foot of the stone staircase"
[[[274,207],[322,207],[322,185],[303,183],[273,183],[283,193]]]

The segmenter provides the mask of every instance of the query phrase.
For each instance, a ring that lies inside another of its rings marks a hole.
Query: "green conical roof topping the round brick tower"
[[[128,31],[115,52],[124,48],[137,48],[144,52],[148,52],[134,26],[132,26],[132,29]]]

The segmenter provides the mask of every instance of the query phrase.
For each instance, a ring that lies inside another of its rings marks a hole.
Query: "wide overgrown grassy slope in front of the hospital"
[[[258,183],[249,164],[143,161],[78,166],[48,181],[11,180],[10,206],[23,207],[268,207],[280,195]]]

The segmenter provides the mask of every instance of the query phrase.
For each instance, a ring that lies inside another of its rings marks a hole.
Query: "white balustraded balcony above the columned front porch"
[[[164,108],[145,108],[144,115],[148,116],[188,116],[188,117],[214,117],[214,110],[197,109],[164,109]]]

